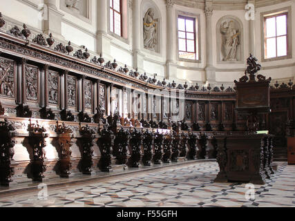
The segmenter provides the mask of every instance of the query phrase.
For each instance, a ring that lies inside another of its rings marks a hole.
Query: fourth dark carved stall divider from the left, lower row
[[[91,175],[93,167],[93,140],[95,139],[95,131],[93,131],[93,129],[91,129],[88,125],[81,126],[80,124],[79,133],[82,135],[82,137],[79,138],[79,143],[82,147],[82,173]]]

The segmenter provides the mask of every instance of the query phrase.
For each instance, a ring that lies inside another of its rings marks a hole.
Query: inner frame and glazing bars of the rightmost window
[[[283,16],[285,15],[286,16],[286,34],[285,35],[277,35],[277,21],[276,21],[276,18],[277,17],[280,17],[280,16]],[[267,27],[266,27],[266,20],[267,19],[272,19],[272,18],[275,18],[275,30],[276,30],[276,35],[274,37],[267,37]],[[288,18],[288,12],[281,12],[281,13],[278,13],[278,14],[275,14],[275,15],[269,15],[269,16],[265,16],[264,17],[264,21],[263,21],[263,26],[264,26],[264,50],[265,50],[265,54],[264,54],[264,59],[267,60],[267,59],[278,59],[278,58],[282,58],[282,57],[286,57],[288,55],[288,48],[289,48],[289,44],[288,44],[288,41],[289,41],[289,36],[288,36],[288,21],[289,21],[289,18]],[[286,55],[283,55],[283,56],[278,56],[278,37],[286,37]],[[267,58],[267,39],[276,39],[276,57],[269,57]]]

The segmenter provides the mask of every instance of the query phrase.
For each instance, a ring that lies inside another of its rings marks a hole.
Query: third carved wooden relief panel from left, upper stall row
[[[48,103],[59,104],[59,73],[48,71]]]

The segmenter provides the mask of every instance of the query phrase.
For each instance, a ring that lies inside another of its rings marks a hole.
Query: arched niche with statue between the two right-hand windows
[[[234,15],[220,18],[216,24],[217,62],[241,64],[244,58],[242,21]]]

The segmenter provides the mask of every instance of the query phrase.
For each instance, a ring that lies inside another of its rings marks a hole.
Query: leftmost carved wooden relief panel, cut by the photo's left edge
[[[0,57],[0,95],[15,98],[15,61]]]

